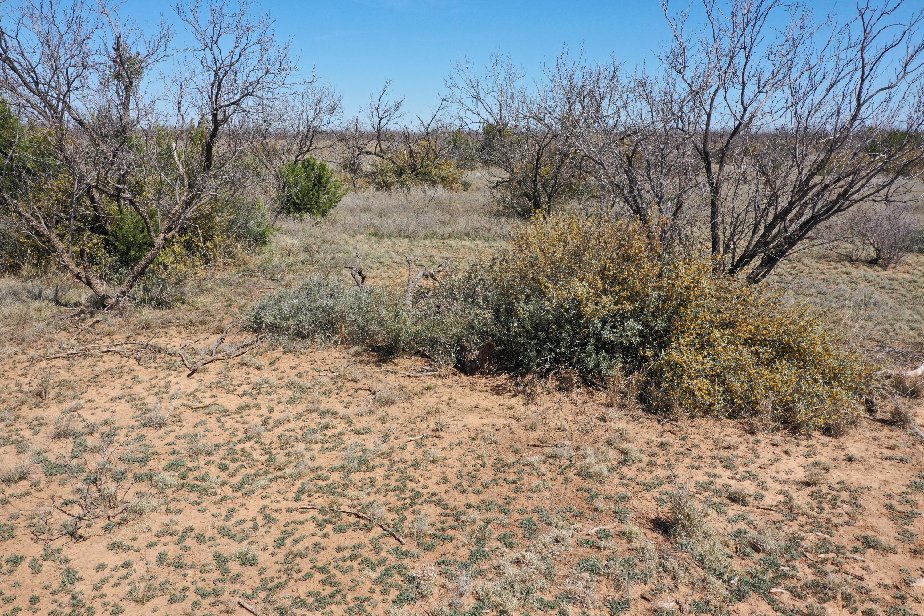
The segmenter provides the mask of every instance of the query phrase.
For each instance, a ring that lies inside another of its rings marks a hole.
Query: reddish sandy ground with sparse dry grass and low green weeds
[[[371,284],[400,284],[405,255],[504,244],[483,193],[437,195],[440,233],[414,224],[413,198],[350,195],[320,225],[282,223],[176,308],[72,324],[79,289],[3,282],[0,613],[924,613],[921,442],[875,421],[836,439],[665,421],[631,383],[338,347],[261,344],[191,378],[163,354],[42,360],[211,347],[268,292],[348,282],[357,249]],[[790,266],[811,284],[788,289],[914,349],[921,263],[813,255]],[[853,294],[879,309],[857,319]]]

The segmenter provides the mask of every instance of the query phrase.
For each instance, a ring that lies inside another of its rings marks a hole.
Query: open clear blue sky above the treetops
[[[819,17],[835,7],[834,0],[811,4]],[[143,25],[172,15],[171,6],[128,0],[124,9]],[[478,63],[493,52],[510,54],[535,75],[563,46],[583,46],[591,60],[614,54],[631,67],[650,58],[668,34],[660,0],[261,0],[261,6],[279,34],[291,38],[300,65],[317,66],[351,112],[385,79],[407,97],[407,110],[426,109],[460,54]],[[687,6],[671,3],[672,11]]]

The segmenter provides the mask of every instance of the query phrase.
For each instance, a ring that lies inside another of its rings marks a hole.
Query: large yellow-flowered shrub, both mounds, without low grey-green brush
[[[641,370],[653,405],[827,428],[857,414],[872,374],[820,315],[713,274],[708,258],[665,255],[636,223],[537,218],[469,276],[507,365]]]

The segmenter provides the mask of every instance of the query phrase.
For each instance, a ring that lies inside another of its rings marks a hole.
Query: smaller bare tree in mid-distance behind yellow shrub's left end
[[[493,55],[484,70],[468,58],[446,78],[457,126],[479,139],[492,189],[521,214],[549,214],[581,175],[572,133],[562,124],[567,103],[545,81],[529,88],[509,57]]]

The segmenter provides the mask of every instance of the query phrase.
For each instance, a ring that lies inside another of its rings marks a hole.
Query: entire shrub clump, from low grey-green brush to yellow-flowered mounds
[[[673,412],[764,415],[807,429],[856,417],[872,370],[819,314],[715,275],[711,260],[665,251],[651,236],[626,221],[535,219],[509,248],[419,293],[410,313],[399,289],[312,278],[264,299],[253,321],[441,363],[493,339],[503,368],[595,381],[639,372],[649,404]]]

